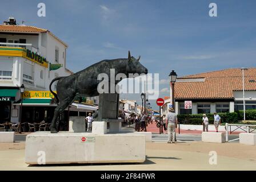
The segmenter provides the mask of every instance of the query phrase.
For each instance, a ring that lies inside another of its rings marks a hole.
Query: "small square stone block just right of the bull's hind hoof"
[[[85,117],[69,117],[69,131],[74,133],[85,132]]]

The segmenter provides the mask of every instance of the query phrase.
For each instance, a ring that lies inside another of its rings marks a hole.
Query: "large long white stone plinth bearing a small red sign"
[[[145,136],[127,134],[94,135],[91,133],[49,131],[26,137],[27,164],[70,163],[143,163]],[[44,158],[45,156],[45,158]]]

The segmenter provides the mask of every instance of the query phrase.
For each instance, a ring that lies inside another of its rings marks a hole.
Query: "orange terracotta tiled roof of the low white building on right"
[[[242,71],[240,68],[199,73],[181,78],[205,78],[204,82],[176,82],[176,99],[195,98],[234,98],[234,90],[242,90]],[[245,90],[256,90],[256,68],[245,71]]]

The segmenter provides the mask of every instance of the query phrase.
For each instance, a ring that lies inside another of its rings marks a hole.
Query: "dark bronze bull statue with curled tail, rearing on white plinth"
[[[97,90],[99,82],[98,75],[105,73],[110,78],[110,69],[115,69],[115,76],[118,73],[124,73],[129,77],[129,73],[142,73],[147,74],[147,68],[145,68],[139,62],[128,53],[128,59],[113,59],[113,60],[102,60],[98,63],[91,65],[90,67],[83,69],[73,75],[66,77],[54,78],[50,83],[50,92],[54,95],[54,102],[58,105],[54,110],[54,117],[51,121],[50,131],[51,133],[58,133],[56,122],[59,114],[63,113],[67,106],[72,104],[77,96],[94,97],[99,96]],[[51,90],[51,85],[54,81],[57,81],[57,94]],[[115,84],[118,84],[115,81]]]

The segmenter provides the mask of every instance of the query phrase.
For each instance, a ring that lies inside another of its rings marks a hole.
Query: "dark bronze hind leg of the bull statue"
[[[58,133],[58,130],[56,127],[57,118],[59,114],[61,114],[66,109],[66,107],[69,106],[71,102],[74,101],[74,97],[66,97],[64,100],[60,100],[60,101],[61,102],[54,110],[54,117],[53,117],[53,120],[51,121],[51,126],[50,126],[51,133]]]

